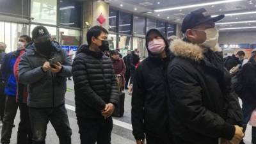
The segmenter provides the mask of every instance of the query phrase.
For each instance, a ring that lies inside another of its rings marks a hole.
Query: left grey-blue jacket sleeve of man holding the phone
[[[32,69],[30,67],[26,54],[23,54],[20,58],[19,63],[19,80],[23,84],[31,84],[39,81],[42,77],[47,74],[43,72],[42,67]]]

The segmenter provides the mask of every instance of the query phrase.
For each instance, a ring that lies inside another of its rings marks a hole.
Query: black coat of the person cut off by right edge
[[[246,104],[256,104],[256,61],[251,58],[241,70],[243,90],[241,99]]]

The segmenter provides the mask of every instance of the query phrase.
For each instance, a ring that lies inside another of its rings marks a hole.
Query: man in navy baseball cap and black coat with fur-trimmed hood
[[[200,8],[184,18],[184,40],[173,40],[175,55],[168,67],[170,129],[175,144],[238,144],[243,139],[243,115],[230,93],[215,23]],[[238,126],[239,125],[239,126]]]

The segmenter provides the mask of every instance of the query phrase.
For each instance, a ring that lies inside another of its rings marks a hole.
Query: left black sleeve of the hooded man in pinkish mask
[[[143,86],[141,67],[135,70],[132,85],[132,133],[136,140],[145,138],[144,131],[144,97],[146,93]]]

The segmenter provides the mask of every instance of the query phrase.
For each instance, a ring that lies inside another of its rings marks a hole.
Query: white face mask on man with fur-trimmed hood
[[[196,31],[202,31],[199,29],[194,29]],[[206,40],[201,45],[205,47],[213,48],[217,45],[219,40],[219,30],[217,28],[209,28],[204,30],[206,35]]]

